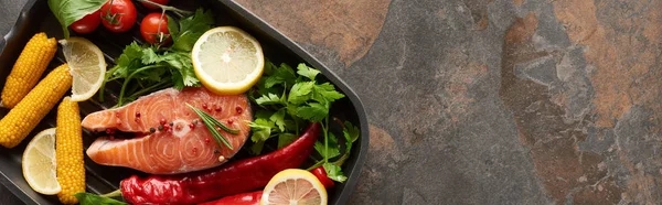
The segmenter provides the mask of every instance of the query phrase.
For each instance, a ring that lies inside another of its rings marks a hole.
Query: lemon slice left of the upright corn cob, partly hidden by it
[[[55,128],[39,132],[23,151],[23,177],[41,194],[54,195],[62,191],[55,170]]]

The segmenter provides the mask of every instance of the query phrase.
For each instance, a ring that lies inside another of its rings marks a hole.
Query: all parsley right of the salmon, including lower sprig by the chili
[[[295,71],[287,64],[266,62],[263,77],[249,93],[252,100],[261,108],[250,122],[254,143],[249,149],[259,154],[271,138],[278,138],[278,148],[282,148],[296,140],[307,123],[320,122],[324,139],[316,142],[314,150],[322,160],[309,170],[324,166],[331,180],[344,182],[346,176],[341,166],[349,159],[360,131],[349,121],[341,122],[335,118],[343,128],[344,143],[330,131],[331,105],[345,96],[332,84],[318,80],[319,74],[320,71],[306,64],[299,64]]]

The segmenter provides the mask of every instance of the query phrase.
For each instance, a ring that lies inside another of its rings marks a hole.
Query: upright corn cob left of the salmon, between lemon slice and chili
[[[85,166],[83,161],[83,128],[78,104],[65,97],[57,107],[57,129],[55,130],[55,159],[57,182],[62,191],[57,193],[63,204],[76,204],[74,194],[85,192]]]

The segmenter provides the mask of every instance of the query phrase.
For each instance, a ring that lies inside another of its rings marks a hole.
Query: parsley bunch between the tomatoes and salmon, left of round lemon
[[[136,42],[127,45],[116,65],[106,72],[99,100],[104,100],[106,83],[117,79],[122,79],[122,86],[116,106],[122,106],[141,95],[167,87],[182,89],[200,86],[193,71],[191,50],[197,39],[212,29],[214,18],[211,11],[203,9],[197,9],[195,13],[180,19],[179,22],[168,18],[172,46],[140,45]]]

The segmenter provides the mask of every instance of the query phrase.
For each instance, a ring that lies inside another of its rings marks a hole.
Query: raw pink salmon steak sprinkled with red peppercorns
[[[236,134],[220,130],[234,149],[220,145],[186,104],[238,130]],[[250,121],[245,95],[222,96],[200,87],[156,91],[124,107],[90,114],[82,126],[92,131],[118,130],[137,136],[97,138],[87,149],[94,162],[151,174],[177,174],[225,163],[246,142]]]

